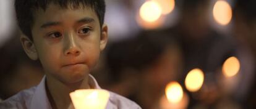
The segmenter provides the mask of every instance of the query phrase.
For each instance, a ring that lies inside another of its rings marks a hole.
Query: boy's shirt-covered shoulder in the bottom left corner
[[[13,95],[9,99],[0,102],[0,109],[9,108],[26,108],[30,104],[33,94],[35,93],[36,87],[31,87],[30,89],[25,89],[19,93]]]

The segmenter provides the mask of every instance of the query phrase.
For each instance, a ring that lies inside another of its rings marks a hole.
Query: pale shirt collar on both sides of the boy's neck
[[[46,95],[45,79],[46,76],[43,77],[41,82],[36,87],[35,93],[32,97],[32,101],[30,103],[31,109],[52,109],[51,103],[49,103],[48,97]],[[92,75],[89,75],[89,84],[95,89],[101,89],[96,79]]]

